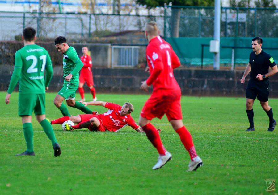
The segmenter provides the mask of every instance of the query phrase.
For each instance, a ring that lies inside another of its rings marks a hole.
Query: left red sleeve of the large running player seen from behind
[[[151,85],[162,72],[163,62],[162,62],[162,56],[158,48],[153,46],[147,47],[146,53],[147,53],[147,58],[150,60],[150,64],[153,68],[153,71],[151,72],[149,78],[147,79],[147,85]]]

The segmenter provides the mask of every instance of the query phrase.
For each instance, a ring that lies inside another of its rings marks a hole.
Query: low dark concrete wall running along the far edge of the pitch
[[[6,91],[10,82],[13,67],[0,66],[0,90]],[[54,68],[50,91],[59,91],[63,84],[62,68]],[[177,69],[176,80],[183,95],[194,96],[241,96],[245,97],[247,82],[241,85],[243,71],[215,71]],[[94,83],[97,93],[142,93],[141,81],[148,78],[144,69],[110,69],[93,68]],[[278,98],[278,74],[270,78],[270,97]],[[84,87],[89,92],[88,87]],[[150,90],[151,91],[151,90]]]

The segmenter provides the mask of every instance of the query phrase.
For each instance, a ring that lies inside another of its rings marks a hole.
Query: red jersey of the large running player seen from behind
[[[157,89],[180,90],[173,69],[179,67],[180,61],[171,45],[157,36],[150,40],[146,49],[146,58],[150,67],[147,84]]]

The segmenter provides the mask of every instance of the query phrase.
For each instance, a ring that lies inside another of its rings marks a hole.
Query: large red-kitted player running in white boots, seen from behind
[[[192,136],[182,121],[181,90],[173,73],[173,69],[180,66],[179,58],[171,45],[159,36],[156,22],[152,21],[146,25],[145,37],[149,42],[146,49],[148,62],[146,71],[150,71],[150,76],[142,82],[141,89],[148,91],[150,85],[153,85],[154,91],[141,111],[139,125],[159,153],[158,162],[153,169],[161,168],[172,158],[171,153],[164,148],[155,127],[150,123],[153,118],[161,119],[166,114],[167,119],[179,134],[180,140],[190,154],[191,162],[187,171],[196,170],[203,165],[203,161],[197,156]]]

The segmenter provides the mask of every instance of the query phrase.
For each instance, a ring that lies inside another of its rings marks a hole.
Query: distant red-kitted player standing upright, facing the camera
[[[94,80],[93,80],[93,73],[91,70],[92,67],[92,58],[88,55],[88,47],[82,47],[83,55],[80,57],[81,61],[83,62],[84,66],[81,69],[80,76],[79,76],[79,93],[81,96],[81,101],[85,101],[84,98],[84,89],[83,85],[86,82],[87,86],[90,88],[91,94],[93,95],[93,101],[96,101],[97,98],[95,96],[95,88],[94,88]]]

